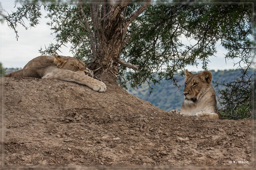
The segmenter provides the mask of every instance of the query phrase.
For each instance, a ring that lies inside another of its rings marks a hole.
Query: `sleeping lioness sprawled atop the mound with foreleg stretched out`
[[[36,57],[22,70],[7,74],[5,77],[58,79],[87,85],[94,91],[105,92],[107,89],[103,82],[92,78],[93,71],[86,69],[84,62],[74,57],[60,55]]]

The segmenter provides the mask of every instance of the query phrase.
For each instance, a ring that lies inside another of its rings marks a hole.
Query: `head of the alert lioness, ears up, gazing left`
[[[184,102],[193,104],[200,100],[204,90],[211,85],[212,73],[210,71],[203,71],[202,73],[192,74],[186,71],[185,75]]]

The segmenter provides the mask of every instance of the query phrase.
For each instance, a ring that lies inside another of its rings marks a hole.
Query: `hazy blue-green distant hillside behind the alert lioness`
[[[236,77],[240,74],[239,69],[236,70],[209,70],[212,72],[212,81],[218,80],[219,83],[234,81]],[[171,81],[163,80],[160,85],[154,87],[153,93],[149,95],[150,89],[147,85],[141,85],[138,89],[133,89],[130,85],[127,85],[130,94],[139,97],[140,99],[146,100],[152,103],[154,106],[170,111],[172,109],[180,110],[183,103],[183,90],[184,90],[184,79],[185,77],[176,76],[175,78],[179,79],[178,85],[181,85],[180,89],[172,85]],[[216,84],[212,84],[213,87]],[[215,92],[219,89],[224,89],[225,87],[218,86],[215,87]],[[216,93],[217,95],[217,93]],[[217,99],[217,96],[216,96]],[[217,101],[218,104],[218,101]],[[220,107],[219,105],[217,107]]]

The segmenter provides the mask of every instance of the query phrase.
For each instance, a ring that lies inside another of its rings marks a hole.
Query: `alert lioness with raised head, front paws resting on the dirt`
[[[180,111],[171,110],[171,112],[206,119],[221,119],[217,109],[215,92],[211,85],[212,73],[203,71],[202,73],[192,74],[186,71],[185,75],[182,107]]]

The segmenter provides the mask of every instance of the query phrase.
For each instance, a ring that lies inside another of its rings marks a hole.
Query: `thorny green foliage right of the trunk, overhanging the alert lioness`
[[[208,57],[216,53],[221,41],[228,50],[226,59],[240,58],[238,66],[250,68],[251,6],[150,6],[137,18],[130,29],[131,41],[123,50],[123,60],[140,65],[139,71],[129,72],[132,87],[144,82],[160,83],[184,73],[187,65],[203,63],[207,70]],[[181,41],[185,37],[191,43]],[[127,58],[128,57],[128,58]],[[125,70],[123,68],[121,71]],[[158,76],[156,76],[158,75]],[[125,83],[126,81],[124,81]]]

